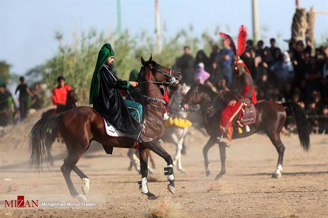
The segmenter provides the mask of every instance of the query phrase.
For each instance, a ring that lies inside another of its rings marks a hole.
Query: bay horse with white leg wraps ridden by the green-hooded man
[[[173,161],[171,156],[160,146],[158,139],[164,132],[163,112],[164,105],[159,85],[175,85],[181,80],[181,73],[176,70],[161,66],[152,60],[145,61],[141,57],[142,67],[138,77],[139,86],[131,90],[132,97],[143,106],[145,116],[145,135],[153,138],[151,142],[142,143],[139,147],[140,171],[142,180],[139,182],[141,193],[148,199],[156,199],[147,187],[147,160],[149,150],[162,157],[168,164],[164,168],[170,184],[168,189],[174,193],[175,183],[173,174]],[[47,128],[56,128],[62,135],[68,150],[68,156],[61,167],[67,186],[73,197],[85,200],[85,196],[79,194],[71,180],[73,170],[82,179],[82,191],[89,190],[88,177],[76,166],[82,155],[88,150],[92,140],[98,141],[104,146],[116,148],[134,148],[135,141],[129,137],[111,137],[105,132],[102,116],[92,107],[82,106],[60,114],[54,114],[40,119],[30,133],[30,161],[31,167],[42,170],[42,161],[45,157],[45,145],[47,141]]]

